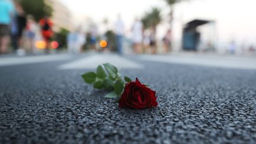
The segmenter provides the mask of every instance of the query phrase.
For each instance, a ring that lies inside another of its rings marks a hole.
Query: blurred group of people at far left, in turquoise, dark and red
[[[37,23],[32,15],[25,14],[18,1],[0,0],[0,54],[10,51],[19,56],[33,53],[38,31],[41,31],[41,36],[46,41],[48,53],[53,36],[52,26],[52,21],[47,17],[41,18]],[[8,49],[10,44],[12,50]]]

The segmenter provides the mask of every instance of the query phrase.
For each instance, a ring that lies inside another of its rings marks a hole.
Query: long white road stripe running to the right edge
[[[169,55],[140,56],[142,60],[187,65],[213,66],[219,68],[256,69],[256,57]]]

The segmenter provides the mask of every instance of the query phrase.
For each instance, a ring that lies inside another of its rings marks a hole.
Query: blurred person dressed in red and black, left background
[[[50,40],[52,39],[52,36],[53,36],[52,20],[50,20],[50,18],[48,17],[44,17],[44,18],[41,18],[41,20],[39,21],[39,24],[41,26],[41,35],[43,36],[43,39],[46,42],[45,52],[49,53]]]

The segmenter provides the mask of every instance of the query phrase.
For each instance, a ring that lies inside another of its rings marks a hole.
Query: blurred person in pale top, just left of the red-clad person
[[[32,15],[27,17],[27,25],[25,27],[25,36],[28,39],[28,51],[33,53],[34,50],[34,39],[36,37],[37,25]]]

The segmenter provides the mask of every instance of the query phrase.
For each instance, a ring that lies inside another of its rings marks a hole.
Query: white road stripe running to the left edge
[[[52,62],[70,59],[69,55],[46,55],[46,56],[24,56],[24,57],[1,57],[0,66],[22,65],[28,63]]]

